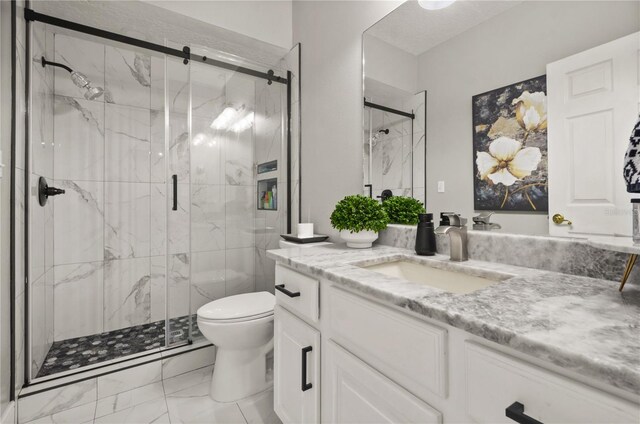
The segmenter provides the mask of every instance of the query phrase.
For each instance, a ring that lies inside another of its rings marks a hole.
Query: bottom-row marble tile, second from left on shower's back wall
[[[114,259],[105,262],[104,331],[151,321],[150,267],[149,258]],[[150,344],[149,347],[158,346]]]

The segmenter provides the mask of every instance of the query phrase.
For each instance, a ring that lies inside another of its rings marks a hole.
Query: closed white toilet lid
[[[210,320],[258,318],[273,313],[276,298],[269,292],[245,293],[209,302],[198,309],[198,317]]]

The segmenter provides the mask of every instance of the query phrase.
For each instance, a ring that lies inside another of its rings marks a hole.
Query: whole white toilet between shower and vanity
[[[272,385],[267,354],[273,350],[273,308],[269,292],[214,300],[198,309],[198,328],[216,346],[210,397],[235,402]]]

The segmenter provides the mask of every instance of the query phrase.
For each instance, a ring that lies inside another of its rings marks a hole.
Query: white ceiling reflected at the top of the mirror
[[[426,10],[409,0],[365,34],[419,55],[520,3],[522,0],[458,0],[445,9]]]

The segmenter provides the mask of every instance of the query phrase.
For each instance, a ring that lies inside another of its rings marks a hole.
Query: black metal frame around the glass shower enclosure
[[[16,17],[17,18],[17,17]],[[72,21],[67,21],[64,19],[60,19],[60,18],[56,18],[54,16],[50,16],[50,15],[45,15],[45,14],[41,14],[38,13],[32,9],[30,9],[27,5],[27,7],[24,9],[24,19],[26,21],[26,25],[25,25],[25,29],[26,29],[26,45],[25,45],[25,64],[27,64],[28,66],[25,66],[25,91],[26,91],[26,105],[27,105],[27,113],[25,114],[25,121],[24,121],[24,125],[25,125],[25,139],[24,139],[24,143],[25,143],[25,169],[24,169],[24,178],[25,178],[25,193],[24,193],[24,205],[25,205],[25,221],[24,221],[24,228],[25,228],[25,232],[24,232],[24,265],[25,265],[25,270],[29,269],[29,238],[30,238],[30,232],[29,232],[29,202],[31,201],[30,199],[30,193],[29,190],[26,189],[27,187],[30,187],[28,184],[30,183],[30,172],[31,172],[31,167],[30,167],[30,151],[31,151],[31,146],[30,146],[30,142],[31,142],[31,134],[30,134],[30,123],[31,123],[31,93],[32,93],[32,78],[31,78],[31,60],[30,60],[30,56],[31,56],[31,41],[32,41],[32,26],[31,23],[32,22],[40,22],[42,24],[48,24],[48,25],[52,25],[54,27],[59,27],[59,28],[65,28],[68,30],[72,30],[75,32],[79,32],[79,33],[83,33],[83,34],[87,34],[87,35],[92,35],[92,36],[96,36],[99,38],[104,38],[104,39],[108,39],[111,41],[115,41],[118,43],[122,43],[122,44],[126,44],[126,45],[131,45],[134,47],[138,47],[138,48],[142,48],[142,49],[146,49],[146,50],[151,50],[151,51],[155,51],[167,56],[172,56],[172,57],[177,57],[177,58],[181,58],[183,59],[183,63],[185,65],[188,65],[190,61],[196,61],[196,62],[200,62],[200,63],[204,63],[207,65],[211,65],[211,66],[215,66],[217,68],[222,68],[222,69],[226,69],[226,70],[230,70],[233,72],[238,72],[238,73],[242,73],[245,75],[250,75],[253,77],[257,77],[257,78],[261,78],[261,79],[265,79],[267,80],[267,83],[269,85],[271,85],[272,83],[279,83],[279,84],[284,84],[286,85],[286,107],[287,107],[287,111],[286,111],[286,125],[287,125],[287,131],[286,131],[286,157],[287,157],[287,218],[286,218],[286,228],[287,228],[287,232],[290,233],[291,232],[291,227],[292,227],[292,223],[291,223],[291,218],[292,218],[292,211],[291,211],[291,207],[293,205],[292,202],[292,196],[291,196],[291,162],[292,162],[292,157],[291,157],[291,143],[292,143],[292,132],[291,132],[291,117],[292,117],[292,113],[291,113],[291,101],[292,101],[292,87],[291,87],[291,81],[292,81],[292,72],[290,70],[287,70],[287,76],[286,77],[282,77],[279,76],[277,74],[275,74],[275,72],[273,70],[269,70],[267,72],[262,72],[262,71],[258,71],[255,69],[251,69],[251,68],[247,68],[247,67],[243,67],[243,66],[238,66],[238,65],[234,65],[234,64],[230,64],[227,62],[223,62],[217,59],[213,59],[213,58],[208,58],[206,56],[200,56],[200,55],[196,55],[196,54],[192,54],[191,53],[191,49],[188,46],[184,46],[182,50],[178,50],[178,49],[174,49],[174,48],[170,48],[170,47],[166,47],[160,44],[155,44],[155,43],[151,43],[148,41],[144,41],[144,40],[140,40],[140,39],[136,39],[136,38],[132,38],[132,37],[128,37],[122,34],[118,34],[118,33],[114,33],[114,32],[110,32],[110,31],[106,31],[106,30],[102,30],[99,28],[95,28],[95,27],[91,27],[91,26],[87,26],[87,25],[83,25],[77,22],[72,22]],[[15,54],[14,54],[15,57]],[[165,77],[166,78],[166,77]],[[167,110],[165,108],[165,114],[167,113]],[[15,111],[12,114],[14,117],[16,116]],[[165,121],[166,121],[166,117],[165,117]],[[165,122],[165,125],[167,123]],[[165,142],[165,148],[166,148],[166,142]],[[299,151],[301,149],[299,148]],[[168,164],[166,165],[168,166]],[[13,176],[13,173],[12,173]],[[168,193],[167,193],[168,194]],[[168,197],[167,196],[167,201],[168,201]],[[298,208],[300,209],[300,203],[298,204]],[[15,206],[15,199],[12,199],[11,202],[11,210],[13,210]],[[12,225],[14,225],[14,220],[12,219]],[[14,252],[14,248],[11,249],[11,252],[14,254],[15,257],[15,252]],[[168,278],[168,272],[165,271],[165,278]],[[19,283],[19,282],[16,282]],[[25,308],[24,308],[24,346],[25,346],[25,355],[24,355],[24,381],[22,384],[22,387],[28,387],[34,384],[39,383],[40,381],[47,381],[47,382],[51,382],[53,380],[57,380],[57,379],[61,379],[61,378],[69,378],[70,376],[73,375],[77,375],[77,374],[82,374],[83,372],[86,372],[87,369],[86,368],[78,368],[77,370],[74,370],[73,372],[67,372],[64,373],[62,375],[56,376],[55,374],[52,374],[49,377],[43,377],[42,379],[37,379],[36,377],[33,377],[31,375],[30,370],[30,366],[31,366],[31,349],[32,349],[32,344],[30,342],[30,334],[29,334],[29,323],[30,323],[30,311],[29,311],[29,299],[31,296],[30,290],[29,290],[29,285],[30,285],[30,278],[29,275],[26,274],[25,275],[25,281],[23,282],[23,284],[25,285],[25,297],[24,297],[24,301],[25,301]],[[168,284],[167,281],[165,281],[165,284]],[[11,305],[12,305],[12,309],[15,309],[15,297],[12,296],[11,299]],[[13,317],[13,314],[12,314]],[[191,318],[190,318],[191,319]],[[167,322],[169,320],[168,315],[165,316],[165,322]],[[12,325],[12,330],[15,326],[15,323],[13,323]],[[166,331],[169,331],[169,325],[165,324]],[[168,339],[165,339],[168,340]],[[184,347],[185,345],[189,345],[192,344],[192,339],[191,339],[191,329],[189,331],[189,337],[188,339],[186,339],[183,343],[178,343],[175,345],[165,345],[163,347],[160,348],[160,351],[167,351],[167,350],[171,350],[171,349],[178,349],[181,347]],[[12,347],[12,354],[14,352],[14,348]],[[104,367],[109,367],[112,366],[116,363],[124,363],[128,360],[132,360],[132,359],[140,359],[143,357],[147,357],[147,356],[151,356],[154,354],[157,354],[158,352],[148,352],[148,353],[141,353],[141,354],[134,354],[134,355],[129,355],[129,356],[123,356],[122,358],[117,358],[117,359],[113,359],[113,360],[109,360],[109,361],[105,361],[104,363],[101,364],[97,364],[96,366],[91,367],[91,371],[96,371],[99,370],[100,368],[104,368]],[[177,353],[179,354],[179,353]],[[111,371],[114,372],[114,371]],[[12,377],[12,380],[14,380],[15,378]],[[35,381],[34,380],[38,380]],[[15,387],[15,382],[12,381],[12,385],[11,385],[12,389]]]

